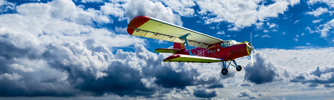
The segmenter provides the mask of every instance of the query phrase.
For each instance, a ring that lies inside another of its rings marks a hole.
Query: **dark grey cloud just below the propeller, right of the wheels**
[[[282,80],[283,77],[289,77],[288,72],[283,67],[273,64],[267,55],[261,52],[255,55],[254,65],[245,66],[244,79],[256,84],[271,83]]]

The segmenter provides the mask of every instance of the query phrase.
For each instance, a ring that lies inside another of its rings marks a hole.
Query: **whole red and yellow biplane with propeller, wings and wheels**
[[[222,75],[227,75],[230,65],[235,67],[236,71],[241,71],[242,67],[236,64],[235,59],[251,55],[253,64],[253,52],[257,53],[248,41],[222,40],[149,16],[134,17],[127,31],[130,35],[174,42],[173,48],[154,50],[156,53],[173,53],[164,59],[164,62],[223,62]],[[189,46],[195,48],[190,49]]]

